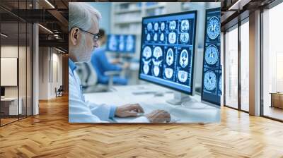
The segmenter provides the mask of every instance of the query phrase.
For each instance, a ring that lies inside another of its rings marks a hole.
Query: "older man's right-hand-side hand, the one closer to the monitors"
[[[165,110],[155,110],[149,114],[146,114],[145,116],[151,123],[163,123],[171,121],[170,114]]]

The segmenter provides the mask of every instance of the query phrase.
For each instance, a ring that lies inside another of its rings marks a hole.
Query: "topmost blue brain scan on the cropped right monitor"
[[[216,39],[220,33],[220,22],[219,19],[214,16],[209,19],[209,24],[207,26],[207,35],[210,39]]]

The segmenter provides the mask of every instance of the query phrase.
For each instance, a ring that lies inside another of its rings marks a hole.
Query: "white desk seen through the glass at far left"
[[[19,100],[19,105],[18,105],[18,100]],[[8,115],[18,115],[18,111],[19,114],[22,114],[22,98],[20,97],[18,99],[18,97],[4,97],[1,98],[1,107],[4,107],[2,104],[8,103]]]

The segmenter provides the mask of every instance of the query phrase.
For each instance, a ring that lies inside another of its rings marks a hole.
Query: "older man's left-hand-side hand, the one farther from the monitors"
[[[125,104],[117,107],[115,115],[118,117],[137,116],[139,113],[144,113],[144,109],[139,104]]]

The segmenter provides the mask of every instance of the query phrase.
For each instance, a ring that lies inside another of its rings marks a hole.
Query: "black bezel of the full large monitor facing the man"
[[[144,20],[146,19],[149,19],[149,18],[161,18],[161,17],[166,17],[166,16],[179,16],[179,15],[183,15],[183,14],[194,14],[195,15],[195,24],[194,24],[194,35],[193,35],[193,44],[192,44],[192,50],[193,50],[193,55],[192,55],[192,76],[191,76],[191,92],[187,92],[185,90],[180,90],[178,88],[175,88],[175,87],[171,87],[171,86],[168,86],[168,85],[163,85],[161,83],[156,83],[156,82],[153,82],[151,80],[146,80],[144,78],[141,78],[141,58],[142,58],[142,39],[144,39],[144,35],[142,34],[142,30],[143,30],[143,27],[141,26],[141,51],[140,51],[140,56],[139,56],[139,80],[144,80],[146,82],[149,82],[149,83],[154,83],[156,85],[161,85],[163,87],[167,87],[171,90],[175,90],[175,91],[178,91],[178,92],[183,92],[187,95],[193,95],[194,94],[194,91],[195,91],[195,44],[196,44],[196,41],[195,41],[195,37],[196,37],[196,34],[197,34],[197,11],[184,11],[184,12],[178,12],[178,13],[168,13],[168,14],[162,14],[162,15],[158,15],[158,16],[146,16],[146,17],[143,17],[142,20],[141,20],[141,25],[143,25],[144,23]],[[164,80],[164,79],[163,79]]]

